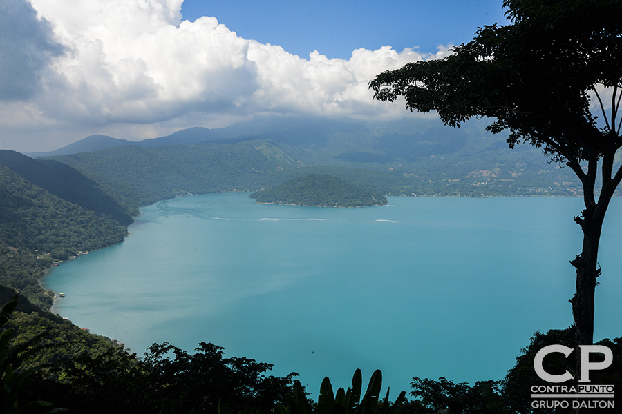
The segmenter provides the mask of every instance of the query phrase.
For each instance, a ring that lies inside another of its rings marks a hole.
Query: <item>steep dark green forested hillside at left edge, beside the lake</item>
[[[43,308],[39,280],[53,262],[121,242],[126,227],[70,203],[0,165],[0,285]],[[49,253],[49,254],[48,254]]]

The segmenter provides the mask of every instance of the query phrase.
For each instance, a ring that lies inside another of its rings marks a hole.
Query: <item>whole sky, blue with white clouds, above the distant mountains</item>
[[[368,82],[505,23],[502,0],[3,0],[0,149],[262,115],[396,119]]]

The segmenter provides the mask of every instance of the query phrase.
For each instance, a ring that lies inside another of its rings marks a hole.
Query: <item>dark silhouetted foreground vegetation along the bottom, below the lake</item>
[[[6,290],[3,294],[6,295]],[[23,300],[23,299],[22,299]],[[409,399],[389,390],[381,401],[381,373],[373,373],[361,399],[361,372],[352,387],[333,393],[326,378],[317,403],[312,402],[296,373],[268,375],[272,366],[244,357],[225,357],[223,348],[200,343],[194,353],[171,344],[154,344],[143,358],[120,344],[95,337],[34,306],[10,299],[0,317],[0,387],[3,413],[44,413],[65,408],[74,413],[563,413],[531,408],[530,388],[544,385],[533,371],[537,351],[549,344],[574,344],[574,327],[536,333],[501,381],[473,386],[445,378],[414,377]],[[19,309],[19,308],[17,308]],[[622,339],[609,346],[614,363],[597,371],[598,384],[622,385]],[[567,369],[563,357],[547,358],[549,372]],[[572,367],[569,368],[572,371]],[[600,413],[616,412],[599,411]]]

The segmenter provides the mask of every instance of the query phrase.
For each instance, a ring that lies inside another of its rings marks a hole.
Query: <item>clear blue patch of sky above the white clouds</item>
[[[396,50],[473,39],[478,27],[505,22],[501,0],[202,1],[184,0],[182,15],[214,16],[241,37],[307,57],[318,50],[348,59],[357,48]]]

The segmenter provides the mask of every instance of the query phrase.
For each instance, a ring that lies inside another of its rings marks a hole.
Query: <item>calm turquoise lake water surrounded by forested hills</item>
[[[578,198],[389,197],[387,206],[255,204],[247,194],[142,208],[117,246],[55,268],[57,311],[142,355],[199,342],[300,374],[317,393],[383,371],[502,378],[531,335],[572,323]],[[607,213],[595,339],[622,334],[622,200]]]

